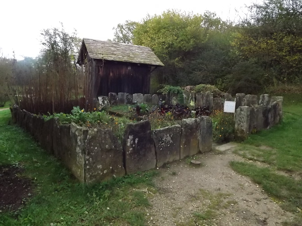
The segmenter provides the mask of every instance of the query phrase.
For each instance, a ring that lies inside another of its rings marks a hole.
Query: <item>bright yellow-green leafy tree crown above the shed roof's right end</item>
[[[177,52],[191,50],[204,36],[202,22],[200,15],[174,10],[148,15],[133,30],[134,44],[149,46],[162,61],[179,64]]]

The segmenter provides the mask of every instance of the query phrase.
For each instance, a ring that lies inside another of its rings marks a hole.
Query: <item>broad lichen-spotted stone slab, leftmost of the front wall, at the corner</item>
[[[89,130],[85,142],[85,182],[102,182],[124,175],[122,147],[112,130]]]

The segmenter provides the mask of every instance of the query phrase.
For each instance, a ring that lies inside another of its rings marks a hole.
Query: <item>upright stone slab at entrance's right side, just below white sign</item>
[[[235,114],[235,139],[246,140],[249,136],[250,107],[239,106]]]

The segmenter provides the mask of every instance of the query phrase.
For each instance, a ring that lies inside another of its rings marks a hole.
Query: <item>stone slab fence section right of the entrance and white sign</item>
[[[236,94],[235,139],[245,140],[249,134],[278,124],[282,118],[282,96]]]

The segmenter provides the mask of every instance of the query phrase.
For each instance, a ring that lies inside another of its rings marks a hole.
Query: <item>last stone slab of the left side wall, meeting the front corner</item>
[[[72,174],[81,182],[85,182],[84,163],[85,148],[84,144],[87,140],[88,129],[79,127],[75,123],[70,125],[70,143],[64,156],[65,165]]]

